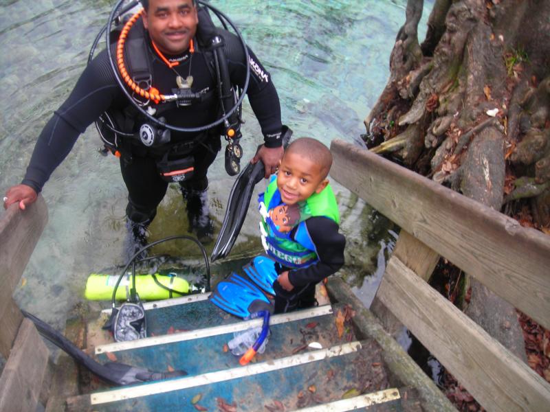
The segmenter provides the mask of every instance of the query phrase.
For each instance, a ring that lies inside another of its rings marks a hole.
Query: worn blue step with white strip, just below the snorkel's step
[[[372,342],[355,341],[245,367],[102,391],[67,404],[74,411],[164,412],[194,410],[192,402],[200,398],[197,404],[209,411],[217,410],[220,402],[234,403],[239,411],[263,411],[278,402],[293,410],[385,387],[380,351]]]

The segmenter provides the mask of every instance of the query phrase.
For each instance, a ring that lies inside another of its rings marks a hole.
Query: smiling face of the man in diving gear
[[[181,54],[197,32],[197,8],[192,0],[149,0],[143,25],[161,52]]]

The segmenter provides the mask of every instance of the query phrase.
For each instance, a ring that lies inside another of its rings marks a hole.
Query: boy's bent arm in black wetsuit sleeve
[[[289,281],[294,286],[318,283],[344,264],[346,238],[338,232],[338,224],[322,216],[309,218],[305,224],[309,237],[315,244],[319,261],[307,268],[289,271]]]

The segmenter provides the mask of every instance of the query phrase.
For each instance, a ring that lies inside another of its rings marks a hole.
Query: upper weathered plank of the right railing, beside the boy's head
[[[331,176],[550,328],[550,236],[341,140]]]

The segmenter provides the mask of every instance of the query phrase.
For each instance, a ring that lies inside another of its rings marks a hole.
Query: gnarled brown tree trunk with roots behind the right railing
[[[417,47],[422,7],[408,0],[367,146],[550,233],[550,1],[436,0]],[[525,359],[514,308],[470,284],[465,312]]]

